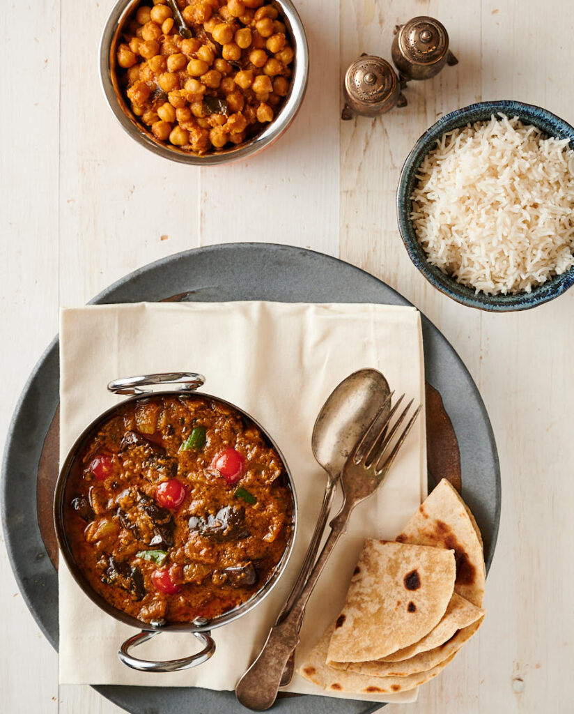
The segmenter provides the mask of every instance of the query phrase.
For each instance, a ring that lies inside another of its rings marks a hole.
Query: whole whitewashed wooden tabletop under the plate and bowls
[[[478,384],[501,459],[486,621],[409,711],[572,712],[574,290],[526,313],[453,303],[411,264],[394,192],[414,141],[457,107],[519,99],[574,122],[574,4],[299,0],[312,64],[302,110],[275,146],[222,169],[153,156],[113,119],[96,61],[112,4],[14,2],[1,13],[1,432],[58,331],[58,306],[84,303],[145,263],[209,243],[273,241],[340,256],[383,278],[441,328]],[[409,84],[406,109],[340,121],[347,65],[364,51],[390,59],[394,24],[421,14],[445,24],[458,66]],[[58,687],[57,655],[26,609],[4,548],[0,583],[1,711],[119,712],[87,686]]]

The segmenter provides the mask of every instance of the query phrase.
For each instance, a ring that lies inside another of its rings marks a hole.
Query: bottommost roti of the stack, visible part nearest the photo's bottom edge
[[[369,677],[356,672],[343,672],[325,663],[329,640],[335,625],[324,633],[317,645],[309,652],[298,672],[302,677],[327,692],[350,692],[355,694],[396,694],[418,687],[436,677],[452,660],[454,655],[427,672],[409,677]]]

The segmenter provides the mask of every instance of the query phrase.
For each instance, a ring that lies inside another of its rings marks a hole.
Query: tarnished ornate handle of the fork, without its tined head
[[[352,508],[347,506],[345,501],[341,511],[331,521],[329,538],[323,546],[317,563],[309,573],[299,598],[295,600],[285,619],[271,628],[259,656],[237,683],[235,687],[237,699],[248,709],[265,711],[275,702],[285,665],[299,643],[299,620],[337,540],[347,531]]]

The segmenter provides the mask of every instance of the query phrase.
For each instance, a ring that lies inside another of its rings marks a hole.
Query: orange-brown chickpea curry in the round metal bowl
[[[265,0],[174,0],[184,39],[163,0],[140,4],[116,50],[131,111],[157,141],[205,154],[260,133],[289,93],[294,52]]]

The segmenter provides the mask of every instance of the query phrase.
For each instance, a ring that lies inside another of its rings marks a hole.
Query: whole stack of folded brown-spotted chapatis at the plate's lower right
[[[342,612],[299,673],[351,693],[428,682],[480,627],[484,580],[476,521],[443,479],[396,542],[365,542]]]

